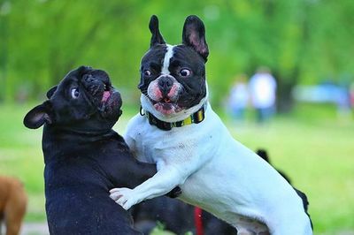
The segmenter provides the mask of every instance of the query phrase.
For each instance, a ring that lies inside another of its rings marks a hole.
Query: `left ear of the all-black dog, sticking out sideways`
[[[30,110],[25,116],[23,124],[30,129],[37,129],[44,123],[51,124],[52,119],[50,117],[50,109],[48,106],[48,102],[43,102],[42,104],[35,106],[35,108]]]

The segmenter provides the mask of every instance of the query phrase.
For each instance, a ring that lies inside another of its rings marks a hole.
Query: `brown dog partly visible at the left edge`
[[[19,234],[26,206],[27,195],[19,179],[0,176],[0,223],[4,219],[6,235]]]

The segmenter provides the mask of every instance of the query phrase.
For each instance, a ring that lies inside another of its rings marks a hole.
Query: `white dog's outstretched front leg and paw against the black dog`
[[[123,208],[129,209],[141,201],[170,192],[175,186],[183,184],[186,178],[177,168],[165,167],[134,189],[113,188],[110,191],[111,198]]]

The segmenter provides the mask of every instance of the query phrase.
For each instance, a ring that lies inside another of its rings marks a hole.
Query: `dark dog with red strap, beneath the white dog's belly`
[[[188,231],[197,235],[237,234],[233,226],[212,214],[168,197],[142,201],[135,205],[131,212],[135,228],[144,234],[150,234],[157,226],[157,222],[164,224],[165,230],[173,231],[175,234],[185,234]]]

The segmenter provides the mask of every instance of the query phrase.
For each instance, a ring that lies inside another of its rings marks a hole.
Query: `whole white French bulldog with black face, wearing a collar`
[[[238,234],[312,234],[294,188],[249,148],[234,140],[208,102],[204,24],[189,16],[182,44],[165,43],[150,19],[150,50],[142,57],[141,114],[125,139],[140,161],[158,173],[134,189],[112,189],[123,208],[181,187],[182,201],[232,224]]]

